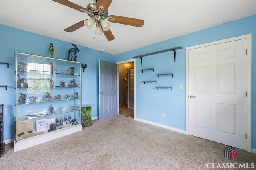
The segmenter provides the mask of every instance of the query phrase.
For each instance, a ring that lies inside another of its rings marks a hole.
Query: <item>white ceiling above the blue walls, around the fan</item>
[[[94,0],[70,1],[86,8]],[[0,7],[3,25],[113,55],[256,14],[256,0],[113,0],[109,15],[143,19],[144,25],[110,23],[115,39],[108,41],[99,35],[97,43],[93,29],[85,26],[65,32],[90,17],[54,1],[0,0]]]

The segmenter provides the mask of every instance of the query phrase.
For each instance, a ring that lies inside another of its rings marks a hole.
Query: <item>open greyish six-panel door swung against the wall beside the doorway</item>
[[[117,115],[117,64],[99,60],[100,121]]]

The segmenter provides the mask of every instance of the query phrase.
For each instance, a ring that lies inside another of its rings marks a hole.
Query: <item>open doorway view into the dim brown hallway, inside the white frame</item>
[[[118,64],[119,114],[134,119],[134,61]]]

